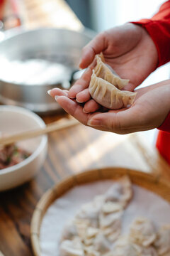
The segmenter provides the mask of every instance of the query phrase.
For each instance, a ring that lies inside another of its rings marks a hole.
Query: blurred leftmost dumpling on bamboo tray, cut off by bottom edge
[[[84,256],[84,248],[79,238],[64,240],[60,245],[60,256]]]

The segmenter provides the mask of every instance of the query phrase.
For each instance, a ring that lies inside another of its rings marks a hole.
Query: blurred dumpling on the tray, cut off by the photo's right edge
[[[170,255],[170,225],[165,225],[159,230],[154,246],[158,255]]]

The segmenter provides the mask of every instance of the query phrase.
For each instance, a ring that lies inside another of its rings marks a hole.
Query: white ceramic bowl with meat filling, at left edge
[[[40,127],[45,127],[45,122],[30,110],[22,107],[0,106],[0,132],[16,134]],[[29,151],[31,155],[15,166],[0,170],[0,191],[29,181],[45,160],[47,154],[46,135],[18,142],[18,145]]]

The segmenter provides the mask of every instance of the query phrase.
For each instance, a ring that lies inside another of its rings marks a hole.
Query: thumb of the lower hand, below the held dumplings
[[[89,119],[88,125],[109,132],[128,134],[141,131],[143,120],[140,108],[130,107],[128,110],[111,110],[107,113],[96,114]]]

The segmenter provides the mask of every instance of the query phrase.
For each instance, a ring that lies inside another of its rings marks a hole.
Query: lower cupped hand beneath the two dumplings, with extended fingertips
[[[95,129],[128,134],[159,127],[170,111],[170,80],[144,87],[136,92],[136,100],[130,108],[93,114],[84,113],[83,106],[68,97],[68,91],[53,89],[50,95],[58,95],[56,100],[66,112],[72,114],[79,122]]]

